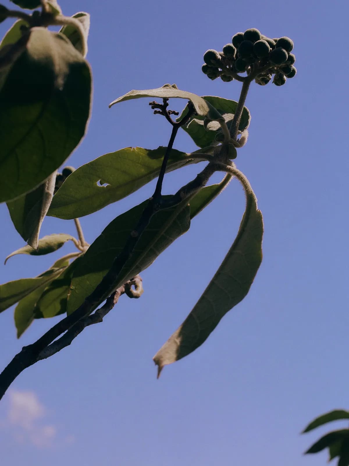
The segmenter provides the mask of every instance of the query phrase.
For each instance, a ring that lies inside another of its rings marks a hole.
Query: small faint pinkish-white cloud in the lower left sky
[[[18,443],[29,442],[38,448],[52,446],[57,429],[43,422],[47,410],[37,395],[33,391],[10,391],[7,398],[6,424],[12,427],[13,438]]]

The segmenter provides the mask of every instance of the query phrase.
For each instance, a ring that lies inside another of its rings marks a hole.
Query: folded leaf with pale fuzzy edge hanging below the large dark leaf
[[[55,181],[56,171],[34,191],[7,202],[14,227],[34,249],[39,244],[40,228],[54,195]]]

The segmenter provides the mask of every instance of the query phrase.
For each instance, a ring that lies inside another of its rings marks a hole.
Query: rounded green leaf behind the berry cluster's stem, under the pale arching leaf
[[[234,113],[237,107],[235,100],[224,99],[223,97],[216,96],[203,96],[208,103],[212,104],[222,115],[226,123],[229,123],[234,118]],[[181,120],[188,113],[188,107],[186,107],[181,115],[177,118],[177,121]],[[239,124],[239,130],[243,131],[248,128],[251,115],[249,110],[244,107],[242,110],[242,117]],[[204,117],[195,115],[191,120],[182,126],[188,135],[193,139],[196,145],[199,147],[206,147],[215,142],[215,136],[217,130],[220,130],[220,125],[217,122],[208,123],[208,129],[204,128]]]

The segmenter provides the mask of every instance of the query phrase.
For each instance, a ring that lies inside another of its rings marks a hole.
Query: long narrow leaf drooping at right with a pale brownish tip
[[[262,213],[251,191],[237,237],[221,266],[186,320],[154,356],[158,377],[166,364],[204,343],[221,318],[247,295],[262,261],[262,236]]]

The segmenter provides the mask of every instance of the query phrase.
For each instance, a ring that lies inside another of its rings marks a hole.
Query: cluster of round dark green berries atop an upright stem
[[[247,72],[257,84],[265,86],[271,81],[276,86],[293,78],[296,69],[295,55],[291,54],[293,41],[289,37],[269,39],[258,29],[247,29],[232,38],[232,43],[223,47],[222,52],[208,50],[204,54],[202,71],[210,79],[221,78],[224,82],[233,81],[239,73]]]

